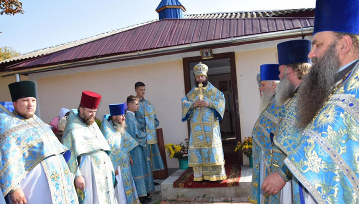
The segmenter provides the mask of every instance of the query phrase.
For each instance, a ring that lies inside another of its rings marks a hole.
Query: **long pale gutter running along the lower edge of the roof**
[[[42,71],[49,71],[52,69],[58,69],[58,68],[71,68],[73,66],[86,66],[93,63],[103,63],[107,61],[116,61],[116,60],[123,60],[128,58],[135,58],[135,57],[144,57],[144,56],[150,56],[155,54],[166,54],[171,52],[178,52],[178,51],[184,51],[184,50],[191,50],[194,48],[203,48],[203,47],[210,47],[210,46],[217,46],[217,45],[230,45],[235,43],[242,43],[242,42],[251,42],[256,40],[264,40],[264,39],[270,39],[270,38],[278,38],[278,37],[288,37],[293,35],[305,35],[313,33],[313,27],[308,28],[298,28],[293,30],[286,30],[286,31],[279,31],[279,32],[272,32],[272,33],[262,33],[257,35],[250,35],[250,36],[241,36],[241,37],[231,37],[226,39],[220,39],[220,40],[213,40],[213,41],[206,41],[206,42],[199,42],[199,43],[191,43],[186,45],[179,45],[174,47],[167,47],[167,48],[159,48],[155,50],[148,50],[148,51],[137,51],[133,53],[127,53],[122,54],[118,56],[111,56],[111,57],[105,57],[101,59],[91,59],[81,62],[75,62],[75,63],[66,63],[66,64],[58,64],[58,65],[52,65],[52,66],[46,66],[46,67],[40,67],[40,68],[28,68],[24,70],[18,70],[18,71],[9,71],[4,72],[1,74],[1,77],[10,76],[14,74],[29,74],[29,73],[36,73],[36,72],[42,72]]]

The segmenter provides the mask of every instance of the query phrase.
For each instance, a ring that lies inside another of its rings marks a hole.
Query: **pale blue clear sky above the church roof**
[[[184,14],[314,8],[315,0],[179,0]],[[158,19],[161,0],[20,0],[0,15],[0,47],[22,54]]]

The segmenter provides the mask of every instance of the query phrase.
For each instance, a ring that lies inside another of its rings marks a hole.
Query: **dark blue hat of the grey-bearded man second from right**
[[[309,40],[290,40],[279,43],[278,64],[290,65],[295,63],[309,63],[308,54],[311,50],[311,42]]]

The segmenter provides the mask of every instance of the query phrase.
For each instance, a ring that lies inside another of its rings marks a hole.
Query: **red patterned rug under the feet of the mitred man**
[[[224,169],[226,171],[227,179],[223,181],[207,181],[200,182],[193,181],[193,170],[189,167],[183,172],[182,175],[174,182],[174,188],[214,188],[214,187],[231,187],[238,186],[241,168],[240,165],[225,164]]]

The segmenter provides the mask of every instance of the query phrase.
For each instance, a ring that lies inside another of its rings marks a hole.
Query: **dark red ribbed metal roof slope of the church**
[[[6,70],[43,67],[190,43],[314,26],[314,18],[163,19],[76,47],[39,56]]]

